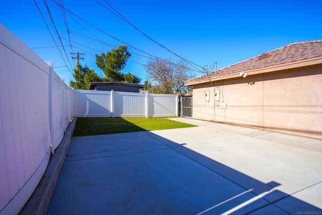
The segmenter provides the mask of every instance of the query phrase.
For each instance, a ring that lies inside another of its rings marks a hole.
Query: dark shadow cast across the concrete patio
[[[73,137],[47,214],[321,214],[184,145],[148,131]]]

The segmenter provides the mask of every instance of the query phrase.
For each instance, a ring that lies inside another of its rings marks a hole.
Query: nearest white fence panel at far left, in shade
[[[0,32],[0,211],[14,214],[50,157],[49,66],[2,24]]]

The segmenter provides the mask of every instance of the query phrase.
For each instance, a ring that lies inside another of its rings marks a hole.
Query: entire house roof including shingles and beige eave
[[[314,64],[322,63],[322,40],[290,43],[287,46],[261,54],[254,58],[190,79],[185,82],[185,85],[233,78],[239,76],[240,72],[250,72],[249,74],[252,74],[253,72],[253,74],[258,74],[277,71],[279,70],[277,65],[281,66],[280,69],[282,69],[282,66],[285,68],[299,67],[300,64],[293,65],[294,67],[290,65],[294,64],[294,62],[306,62],[305,65],[307,65],[308,59],[317,60],[314,61]]]

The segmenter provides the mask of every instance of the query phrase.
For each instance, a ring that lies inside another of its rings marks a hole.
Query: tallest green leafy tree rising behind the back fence
[[[96,65],[103,70],[104,81],[125,81],[138,83],[140,79],[131,73],[123,74],[124,69],[131,53],[127,51],[127,46],[119,45],[107,53],[96,54]]]

